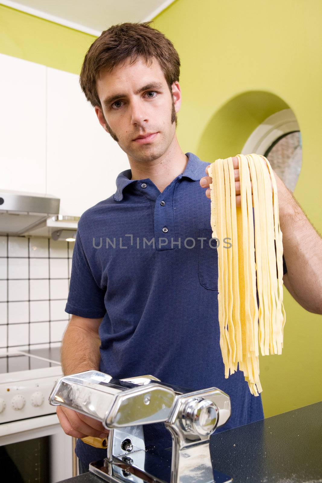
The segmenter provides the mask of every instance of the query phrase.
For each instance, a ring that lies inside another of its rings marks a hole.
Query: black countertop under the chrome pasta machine
[[[210,454],[234,483],[322,483],[322,402],[214,433]],[[64,483],[102,481],[84,473]]]

